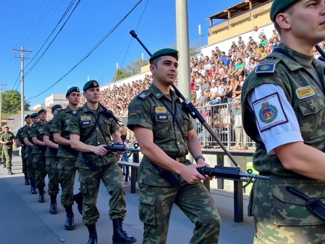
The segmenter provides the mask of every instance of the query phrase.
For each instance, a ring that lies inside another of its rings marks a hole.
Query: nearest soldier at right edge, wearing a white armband
[[[325,40],[323,1],[274,0],[271,19],[281,43],[246,78],[243,127],[257,142],[249,216],[255,244],[325,243],[324,66],[312,49]],[[313,201],[317,216],[307,207]],[[316,199],[314,199],[316,200]],[[323,209],[323,208],[322,208]]]

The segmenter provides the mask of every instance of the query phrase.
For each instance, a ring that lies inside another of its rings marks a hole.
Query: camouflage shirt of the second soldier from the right
[[[153,133],[153,142],[171,157],[188,154],[187,132],[194,129],[188,114],[182,109],[179,98],[171,90],[164,95],[154,84],[135,97],[128,107],[127,127],[141,126]],[[166,107],[166,105],[168,107]],[[177,122],[181,127],[179,130]]]

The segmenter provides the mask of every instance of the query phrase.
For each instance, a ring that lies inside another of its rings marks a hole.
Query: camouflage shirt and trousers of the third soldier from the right
[[[101,114],[99,124],[101,125],[100,127],[105,137],[98,126],[88,139],[86,138],[86,141],[83,141],[95,126],[98,113]],[[87,145],[98,146],[109,143],[111,141],[111,134],[118,132],[118,129],[118,125],[115,121],[112,121],[101,107],[99,107],[96,114],[94,114],[85,104],[82,108],[72,113],[66,131],[80,136],[80,141]],[[97,166],[98,169],[93,170],[86,161],[90,161]],[[80,190],[84,198],[82,209],[83,224],[85,226],[90,226],[96,223],[100,218],[100,212],[96,207],[96,202],[101,179],[104,182],[107,192],[111,195],[109,201],[110,219],[121,218],[124,220],[126,212],[125,192],[123,175],[121,168],[117,164],[117,157],[108,155],[101,157],[98,155],[85,155],[81,153],[77,160],[77,167],[79,169]]]

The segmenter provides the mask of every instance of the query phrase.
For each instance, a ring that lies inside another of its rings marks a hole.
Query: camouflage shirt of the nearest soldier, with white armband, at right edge
[[[278,48],[285,50],[294,58],[295,56],[298,58],[304,55],[288,48],[282,43],[279,44]],[[257,143],[263,143],[257,130],[254,113],[249,108],[247,102],[248,94],[254,87],[269,83],[279,85],[284,89],[286,98],[296,113],[304,143],[319,150],[324,148],[324,67],[315,62],[315,60],[312,61],[312,66],[317,71],[322,87],[320,87],[316,80],[311,78],[306,68],[279,52],[272,52],[248,75],[244,82],[241,96],[243,127],[250,138]],[[259,172],[293,178],[302,177],[293,171],[285,169],[276,155],[268,155],[264,148],[257,148],[255,151],[253,167]]]

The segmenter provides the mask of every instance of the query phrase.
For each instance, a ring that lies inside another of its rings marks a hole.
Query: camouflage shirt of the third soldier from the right
[[[99,125],[95,124],[98,116],[100,116]],[[118,132],[118,130],[119,126],[110,119],[102,107],[99,106],[97,110],[93,111],[87,107],[87,104],[72,113],[69,125],[66,128],[66,132],[80,136],[80,141],[92,146],[109,144],[111,134]],[[88,136],[89,133],[91,134]],[[96,157],[99,158],[100,156]],[[108,155],[104,156],[103,159],[107,162],[117,160],[115,156]]]

